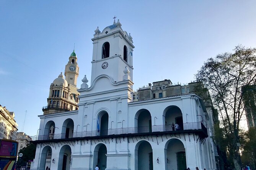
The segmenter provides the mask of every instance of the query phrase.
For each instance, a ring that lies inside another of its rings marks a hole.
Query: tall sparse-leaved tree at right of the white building
[[[240,155],[237,143],[240,142],[240,120],[245,112],[246,88],[256,83],[256,49],[238,45],[234,53],[222,53],[209,58],[196,74],[209,90],[202,95],[205,101],[218,110],[220,126],[226,138],[227,152],[236,170],[240,170]]]

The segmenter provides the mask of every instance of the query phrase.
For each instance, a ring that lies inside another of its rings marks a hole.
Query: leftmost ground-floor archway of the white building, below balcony
[[[42,149],[40,156],[39,169],[46,169],[46,167],[51,168],[52,160],[52,148],[50,146],[45,146]]]

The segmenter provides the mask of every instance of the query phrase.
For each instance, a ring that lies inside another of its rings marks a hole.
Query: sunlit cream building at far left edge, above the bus
[[[14,112],[0,105],[0,139],[16,140],[18,123],[14,120]]]

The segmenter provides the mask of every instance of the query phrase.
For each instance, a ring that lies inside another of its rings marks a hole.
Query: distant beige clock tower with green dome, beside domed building
[[[69,61],[65,66],[65,79],[67,80],[68,84],[77,87],[77,77],[79,74],[79,67],[77,64],[77,55],[75,50],[69,57]]]

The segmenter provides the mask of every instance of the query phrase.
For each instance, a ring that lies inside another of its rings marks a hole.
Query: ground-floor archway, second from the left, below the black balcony
[[[59,153],[58,170],[70,169],[71,153],[72,152],[70,146],[62,146]]]

